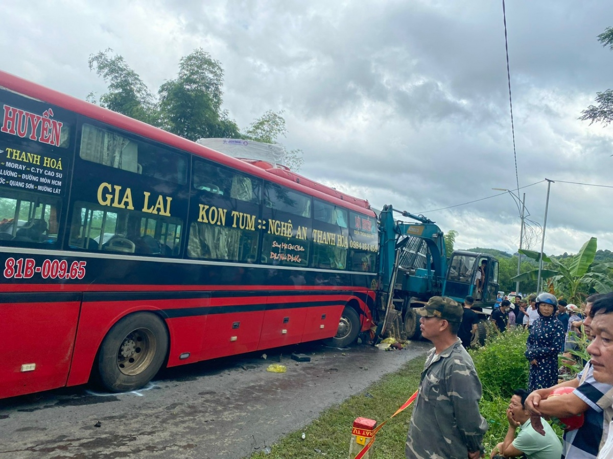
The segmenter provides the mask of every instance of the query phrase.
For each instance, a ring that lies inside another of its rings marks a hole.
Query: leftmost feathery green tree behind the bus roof
[[[156,124],[158,110],[153,95],[124,58],[111,53],[113,50],[107,48],[97,54],[90,54],[88,59],[89,70],[95,70],[109,84],[109,92],[101,95],[100,105],[131,118]],[[93,93],[88,95],[87,100],[96,102]]]

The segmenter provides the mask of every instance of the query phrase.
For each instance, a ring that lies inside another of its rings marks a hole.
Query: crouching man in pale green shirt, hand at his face
[[[541,419],[545,435],[539,434],[530,424],[530,412],[524,406],[528,391],[516,389],[506,410],[509,429],[504,440],[496,445],[491,458],[518,457],[525,454],[528,459],[560,459],[562,443],[546,420]],[[517,428],[520,431],[515,436]],[[498,456],[500,454],[501,456]]]

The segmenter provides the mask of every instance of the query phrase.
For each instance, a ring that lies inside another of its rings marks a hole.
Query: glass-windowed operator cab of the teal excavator
[[[461,250],[452,253],[443,285],[443,296],[463,302],[464,298],[470,295],[476,303],[493,306],[497,292],[497,259],[487,253]]]

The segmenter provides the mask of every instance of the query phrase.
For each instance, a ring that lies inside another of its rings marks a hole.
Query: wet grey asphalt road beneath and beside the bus
[[[429,347],[310,343],[164,370],[137,392],[79,386],[0,400],[0,459],[243,458]],[[286,373],[266,371],[279,362]]]

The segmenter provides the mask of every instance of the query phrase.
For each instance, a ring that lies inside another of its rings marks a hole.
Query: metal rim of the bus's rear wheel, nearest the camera
[[[157,340],[146,328],[132,330],[121,342],[117,352],[117,366],[121,373],[135,376],[145,370],[153,360]]]

